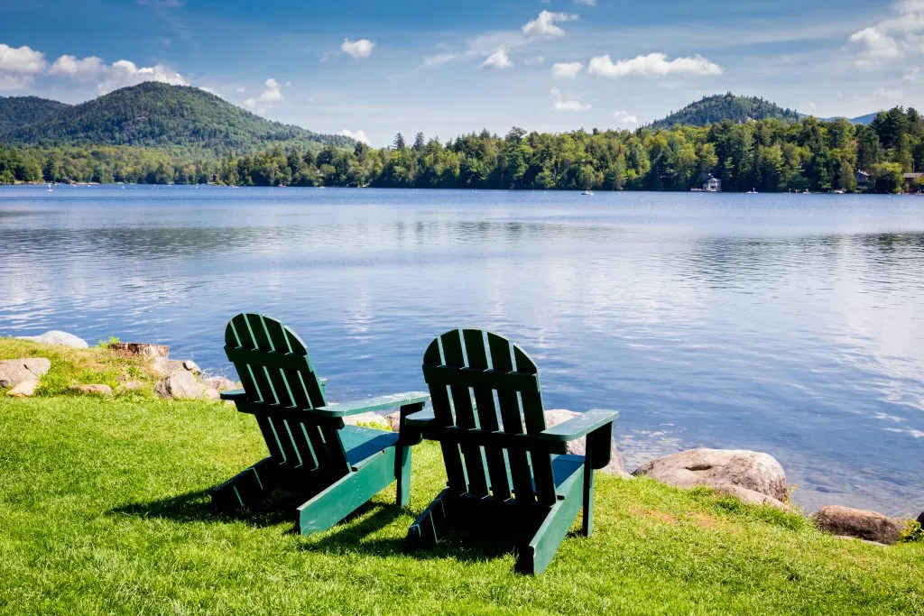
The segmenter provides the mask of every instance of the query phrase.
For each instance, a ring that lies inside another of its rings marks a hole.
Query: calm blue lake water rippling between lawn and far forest
[[[488,328],[548,408],[621,412],[629,470],[755,449],[808,509],[924,509],[920,198],[4,187],[0,281],[0,335],[170,344],[215,373],[225,322],[267,313],[340,401],[425,389],[434,336]]]

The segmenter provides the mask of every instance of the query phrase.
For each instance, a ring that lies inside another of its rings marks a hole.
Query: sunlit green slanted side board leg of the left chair
[[[395,450],[363,461],[298,507],[298,532],[310,535],[343,520],[395,480]]]

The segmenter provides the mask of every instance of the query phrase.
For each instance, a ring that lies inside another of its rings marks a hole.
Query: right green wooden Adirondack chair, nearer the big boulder
[[[409,550],[459,526],[502,529],[519,538],[517,571],[541,574],[581,509],[590,536],[592,469],[610,461],[616,412],[590,410],[546,429],[536,365],[491,332],[444,333],[423,356],[423,376],[432,408],[404,429],[439,441],[448,481],[408,530]],[[582,436],[586,455],[565,454]]]

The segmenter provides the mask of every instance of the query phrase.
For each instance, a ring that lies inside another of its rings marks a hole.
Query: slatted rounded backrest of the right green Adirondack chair
[[[492,332],[452,330],[427,348],[423,376],[451,489],[554,503],[552,458],[538,438],[539,370],[522,349]]]

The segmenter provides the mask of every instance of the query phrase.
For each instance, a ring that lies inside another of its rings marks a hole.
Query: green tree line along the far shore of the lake
[[[845,119],[723,121],[707,127],[487,130],[447,142],[401,134],[386,148],[275,147],[253,155],[177,160],[126,147],[0,146],[0,182],[126,182],[237,186],[689,190],[714,175],[723,190],[898,192],[924,171],[924,121],[915,109],[881,112],[869,126]],[[919,180],[912,189],[924,187]]]

